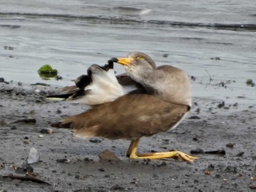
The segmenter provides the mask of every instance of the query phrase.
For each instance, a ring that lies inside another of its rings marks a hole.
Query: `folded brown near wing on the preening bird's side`
[[[64,118],[77,137],[138,139],[173,127],[189,110],[187,105],[171,104],[147,94],[128,94],[100,104],[86,112]]]

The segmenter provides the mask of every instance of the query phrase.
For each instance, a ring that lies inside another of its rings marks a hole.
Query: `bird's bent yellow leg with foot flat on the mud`
[[[133,143],[132,143],[133,142]],[[132,141],[131,145],[132,147],[132,153],[130,153],[129,158],[135,159],[135,158],[151,158],[151,159],[159,159],[159,158],[180,158],[183,161],[194,161],[197,159],[197,157],[188,155],[186,153],[183,153],[178,150],[170,151],[170,152],[157,152],[157,153],[140,153],[137,154],[137,149],[138,149],[138,144],[139,144],[139,139]],[[128,151],[130,150],[130,147]],[[127,151],[127,152],[128,152]]]

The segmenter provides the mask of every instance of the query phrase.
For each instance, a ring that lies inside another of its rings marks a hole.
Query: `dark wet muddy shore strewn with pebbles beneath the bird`
[[[194,98],[192,113],[178,128],[142,138],[139,151],[196,151],[200,159],[131,161],[125,156],[129,141],[79,139],[67,129],[41,133],[50,122],[87,109],[44,98],[57,90],[0,82],[0,191],[256,191],[255,101],[240,110],[239,104]],[[50,185],[4,177],[28,172],[23,163],[31,147],[40,160],[30,174]],[[107,149],[120,160],[100,159]]]

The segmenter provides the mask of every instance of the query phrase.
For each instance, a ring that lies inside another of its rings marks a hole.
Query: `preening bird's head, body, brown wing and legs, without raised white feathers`
[[[126,58],[110,58],[109,61],[124,66],[127,76],[143,89],[63,118],[51,126],[72,128],[75,137],[130,139],[127,156],[131,159],[197,159],[178,150],[137,152],[141,137],[176,128],[191,110],[191,85],[186,72],[171,65],[156,66],[152,58],[141,52],[129,53]]]

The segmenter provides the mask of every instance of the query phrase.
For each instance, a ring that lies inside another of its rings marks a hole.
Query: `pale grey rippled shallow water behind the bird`
[[[230,104],[256,98],[255,87],[245,83],[256,81],[254,0],[1,0],[0,38],[0,77],[7,81],[72,85],[91,64],[139,50],[158,65],[173,64],[196,77],[194,96]],[[45,64],[63,80],[41,80],[37,69]]]

